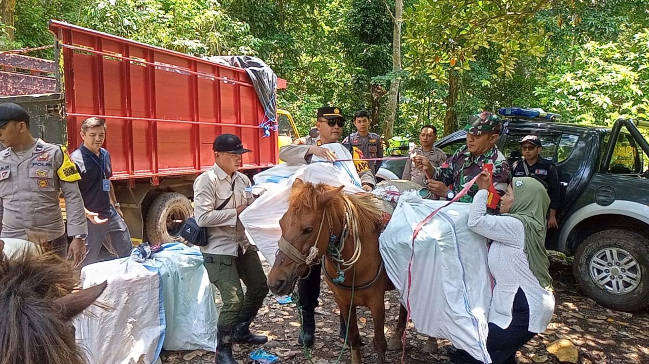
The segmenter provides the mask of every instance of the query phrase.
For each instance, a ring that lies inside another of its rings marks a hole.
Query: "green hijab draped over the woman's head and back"
[[[541,287],[552,290],[552,277],[548,271],[550,260],[545,250],[547,212],[550,198],[545,186],[533,177],[514,177],[511,186],[514,202],[506,216],[517,218],[525,228],[524,251],[530,262],[530,269]]]

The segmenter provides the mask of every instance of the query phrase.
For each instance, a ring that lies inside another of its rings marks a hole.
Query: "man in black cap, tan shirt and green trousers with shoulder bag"
[[[232,343],[262,345],[268,337],[254,335],[250,324],[268,294],[258,249],[251,245],[239,214],[252,203],[250,179],[238,172],[243,148],[236,135],[222,134],[214,141],[215,163],[194,181],[194,216],[207,228],[208,244],[201,247],[210,282],[221,293],[215,363],[235,364]],[[241,280],[247,291],[243,295]]]

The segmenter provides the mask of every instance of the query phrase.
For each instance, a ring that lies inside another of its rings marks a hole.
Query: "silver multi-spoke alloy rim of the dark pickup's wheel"
[[[613,295],[626,295],[640,284],[640,266],[628,251],[607,247],[595,253],[589,263],[593,282]]]

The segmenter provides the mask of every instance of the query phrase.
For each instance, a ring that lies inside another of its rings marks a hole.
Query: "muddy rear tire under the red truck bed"
[[[146,231],[152,244],[180,242],[182,224],[194,214],[190,199],[177,192],[156,197],[147,212]]]

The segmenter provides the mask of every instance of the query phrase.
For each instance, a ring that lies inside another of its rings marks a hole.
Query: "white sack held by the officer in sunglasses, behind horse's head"
[[[339,159],[352,158],[342,144],[323,144],[323,148],[335,152]],[[275,173],[273,171],[275,168],[280,169],[280,172]],[[295,172],[288,178],[278,179],[276,183],[268,183],[269,179],[267,178],[258,179],[269,185],[267,191],[239,215],[239,220],[245,227],[245,233],[249,240],[259,247],[271,266],[275,263],[275,254],[278,250],[277,242],[282,236],[279,222],[288,210],[291,186],[296,178],[299,177],[305,182],[325,183],[332,187],[342,185],[345,186],[344,190],[347,193],[363,192],[360,177],[358,177],[352,161],[326,163],[324,159],[313,156],[310,165],[287,167],[282,164],[262,173],[265,173],[266,176],[278,176],[287,172],[289,170],[287,168],[295,168]]]

